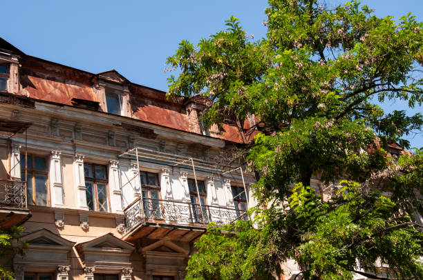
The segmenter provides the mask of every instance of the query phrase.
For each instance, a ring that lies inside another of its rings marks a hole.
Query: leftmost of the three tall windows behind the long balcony
[[[160,184],[158,181],[158,174],[142,171],[140,175],[144,214],[147,218],[161,219],[162,212],[160,208]]]

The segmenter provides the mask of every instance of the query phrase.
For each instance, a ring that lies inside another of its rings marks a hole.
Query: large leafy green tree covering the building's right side
[[[182,41],[167,59],[181,70],[169,95],[209,98],[203,121],[236,123],[240,154],[259,175],[254,222],[225,236],[209,228],[188,279],[271,278],[287,259],[306,279],[351,279],[360,268],[375,279],[422,279],[423,236],[412,219],[422,211],[423,154],[385,150],[409,148],[404,137],[422,130],[423,116],[386,114],[375,100],[422,105],[423,24],[411,14],[375,17],[359,1],[268,3],[265,38],[252,40],[231,17],[226,30],[196,46]],[[259,121],[244,130],[252,114]],[[262,133],[248,143],[254,130]],[[312,178],[344,188],[328,201]],[[381,276],[376,261],[390,272]]]

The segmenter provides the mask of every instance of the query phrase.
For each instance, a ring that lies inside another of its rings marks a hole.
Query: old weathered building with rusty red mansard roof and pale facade
[[[207,223],[247,219],[254,177],[225,154],[248,139],[205,130],[203,102],[0,39],[0,226],[28,243],[16,279],[183,279]]]

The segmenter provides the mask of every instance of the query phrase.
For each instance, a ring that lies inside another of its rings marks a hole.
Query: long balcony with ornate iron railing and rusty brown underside
[[[247,212],[234,208],[139,197],[124,210],[126,241],[140,238],[195,241],[212,221],[218,225],[247,220]]]

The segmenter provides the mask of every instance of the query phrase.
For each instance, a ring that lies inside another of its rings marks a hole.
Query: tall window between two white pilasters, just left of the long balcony
[[[106,166],[84,163],[84,174],[88,209],[109,212]]]

